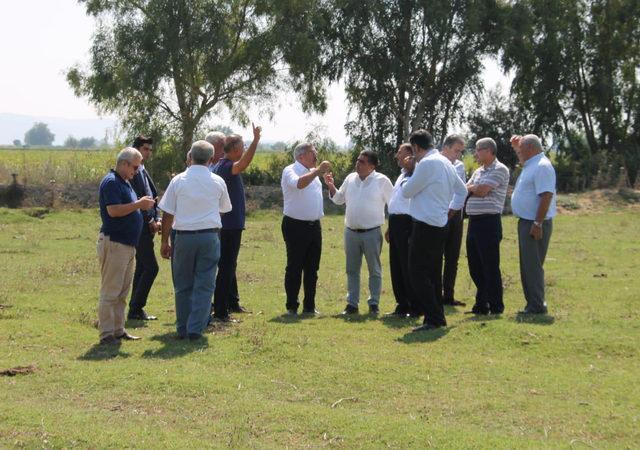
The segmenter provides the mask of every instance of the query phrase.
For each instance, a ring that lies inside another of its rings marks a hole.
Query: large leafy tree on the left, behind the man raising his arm
[[[325,106],[305,55],[291,58],[289,26],[310,0],[80,2],[98,29],[89,67],[72,68],[68,81],[131,132],[176,137],[184,152],[212,111],[224,106],[245,122],[246,108],[268,109],[286,81],[296,83],[305,106]]]

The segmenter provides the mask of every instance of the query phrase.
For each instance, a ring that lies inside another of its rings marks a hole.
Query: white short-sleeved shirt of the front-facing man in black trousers
[[[297,220],[320,220],[324,216],[322,183],[318,177],[305,188],[298,188],[298,180],[309,173],[299,161],[282,171],[280,186],[284,197],[284,215]]]

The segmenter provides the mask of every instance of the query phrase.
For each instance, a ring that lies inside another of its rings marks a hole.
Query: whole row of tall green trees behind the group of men
[[[246,123],[249,105],[269,111],[292,89],[323,112],[342,80],[350,136],[383,159],[415,128],[441,139],[466,125],[501,143],[540,134],[588,178],[640,170],[637,0],[80,1],[99,27],[69,83],[175,161],[220,108]],[[485,92],[485,57],[513,75],[509,97]]]

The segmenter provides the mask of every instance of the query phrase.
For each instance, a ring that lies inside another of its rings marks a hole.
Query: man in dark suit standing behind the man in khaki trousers
[[[144,166],[151,158],[153,139],[140,135],[133,141],[133,148],[138,149],[142,154],[142,164],[131,179],[131,187],[138,198],[148,196],[155,199],[158,196],[158,191]],[[142,234],[136,247],[136,269],[133,274],[133,286],[127,318],[133,320],[156,320],[157,317],[148,315],[144,307],[147,305],[147,297],[151,286],[153,286],[153,282],[158,275],[158,261],[153,249],[153,238],[162,224],[157,204],[146,211],[142,211],[142,218]]]

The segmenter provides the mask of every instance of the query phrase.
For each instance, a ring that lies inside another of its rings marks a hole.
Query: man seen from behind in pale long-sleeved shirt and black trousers
[[[402,195],[411,199],[409,213],[413,218],[409,246],[411,285],[425,315],[424,324],[413,330],[417,332],[447,325],[435,286],[440,277],[449,210],[462,208],[467,187],[451,162],[433,148],[433,137],[428,131],[414,131],[409,142],[418,162],[402,185]],[[454,194],[457,202],[452,202]]]

